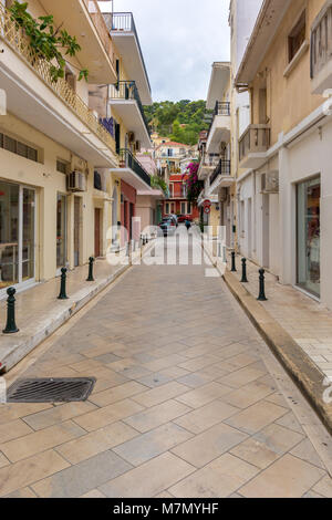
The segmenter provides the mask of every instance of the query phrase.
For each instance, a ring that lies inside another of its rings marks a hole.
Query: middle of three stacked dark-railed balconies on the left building
[[[151,148],[149,128],[135,81],[118,81],[110,87],[110,104],[144,148]]]

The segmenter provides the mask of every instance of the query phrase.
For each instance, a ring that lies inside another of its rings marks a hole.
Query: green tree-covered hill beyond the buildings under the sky
[[[205,121],[206,102],[203,100],[163,101],[145,106],[144,111],[153,132],[177,143],[195,145],[199,132],[209,127]]]

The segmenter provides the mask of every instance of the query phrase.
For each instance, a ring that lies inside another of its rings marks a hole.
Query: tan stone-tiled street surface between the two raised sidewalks
[[[266,351],[204,266],[134,267],[24,373],[90,399],[1,405],[0,496],[332,497]]]

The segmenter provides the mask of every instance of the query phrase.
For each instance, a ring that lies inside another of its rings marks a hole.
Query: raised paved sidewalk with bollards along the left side
[[[146,246],[145,248],[148,248]],[[133,253],[133,261],[141,250]],[[15,294],[15,321],[20,332],[0,332],[0,370],[8,372],[37,345],[50,336],[129,266],[111,266],[105,259],[94,263],[94,282],[86,282],[87,266],[68,272],[69,300],[58,300],[60,278],[34,285]],[[0,331],[4,329],[7,301],[0,301]]]

